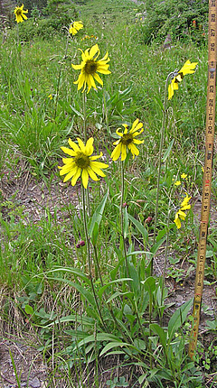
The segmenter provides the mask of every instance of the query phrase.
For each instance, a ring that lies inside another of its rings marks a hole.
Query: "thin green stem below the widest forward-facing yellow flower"
[[[84,223],[84,232],[85,232],[85,237],[86,237],[86,244],[87,244],[87,254],[88,254],[88,265],[89,265],[89,275],[90,275],[90,284],[91,284],[91,289],[93,293],[93,298],[95,300],[98,312],[99,312],[99,317],[101,319],[101,323],[103,325],[103,328],[107,331],[107,327],[105,325],[104,319],[101,315],[101,310],[99,308],[99,302],[97,299],[97,294],[94,288],[93,280],[92,280],[92,275],[91,275],[91,259],[90,259],[90,237],[88,234],[88,223],[87,223],[87,215],[86,215],[86,205],[85,205],[85,190],[83,185],[81,185],[81,191],[82,191],[82,202],[83,202],[83,223]]]

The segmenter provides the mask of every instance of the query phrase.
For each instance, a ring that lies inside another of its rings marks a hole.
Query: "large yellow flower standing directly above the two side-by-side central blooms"
[[[109,71],[109,53],[101,59],[97,60],[99,57],[99,46],[95,44],[90,49],[81,51],[81,63],[80,65],[71,64],[73,69],[80,70],[79,79],[74,82],[74,84],[78,84],[78,90],[83,87],[82,92],[86,89],[88,85],[88,93],[90,92],[90,88],[97,88],[95,84],[96,79],[101,86],[103,86],[103,82],[99,77],[99,73],[101,74],[110,74]]]

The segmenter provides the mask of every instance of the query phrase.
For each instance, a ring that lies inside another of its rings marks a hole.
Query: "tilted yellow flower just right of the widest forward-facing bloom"
[[[123,124],[124,133],[119,132],[120,128],[117,129],[116,133],[120,137],[113,144],[116,145],[115,149],[111,152],[111,159],[115,162],[118,160],[118,157],[121,154],[121,161],[125,161],[127,158],[127,148],[133,155],[133,159],[135,155],[139,154],[139,151],[135,144],[142,144],[144,140],[137,140],[136,137],[144,131],[143,124],[137,120],[132,125],[132,128],[128,132],[127,124]]]

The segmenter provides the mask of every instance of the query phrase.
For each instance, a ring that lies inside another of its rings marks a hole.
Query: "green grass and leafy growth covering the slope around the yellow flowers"
[[[67,37],[61,34],[17,47],[12,32],[0,48],[3,320],[8,331],[15,316],[21,326],[26,319],[25,328],[37,332],[51,366],[51,386],[61,375],[67,386],[76,387],[212,387],[216,316],[208,309],[211,323],[199,337],[192,362],[187,356],[192,302],[171,308],[168,281],[173,278],[175,287],[193,283],[199,233],[193,204],[203,183],[207,47],[144,45],[135,22],[137,5],[131,1],[78,2],[77,8],[84,29],[70,40],[66,57]],[[94,37],[81,41],[86,34]],[[73,84],[79,73],[71,63],[80,63],[78,49],[96,42],[99,58],[109,51],[111,74],[103,77],[103,88],[91,89],[87,97],[87,133],[109,169],[104,180],[90,181],[87,237],[80,183],[74,189],[63,184],[57,166],[61,146],[69,137],[83,136],[83,100]],[[165,79],[187,59],[198,61],[198,68],[167,103],[153,242]],[[123,166],[123,193],[120,163],[109,155],[116,129],[137,117],[144,124],[144,144],[137,158],[127,158]],[[187,180],[181,179],[183,172]],[[176,180],[182,181],[178,187]],[[20,182],[35,191],[33,207],[26,206],[30,194]],[[175,212],[186,192],[193,198],[192,209],[177,230]],[[120,203],[127,205],[120,208]],[[213,288],[215,233],[212,226],[205,269],[205,282]],[[80,240],[85,245],[77,247]]]

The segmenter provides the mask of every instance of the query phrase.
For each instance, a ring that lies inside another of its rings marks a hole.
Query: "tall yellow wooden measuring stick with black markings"
[[[201,226],[197,254],[195,290],[193,300],[193,326],[188,354],[194,356],[203,295],[203,278],[206,258],[206,240],[210,216],[212,160],[215,123],[216,98],[216,53],[217,53],[217,0],[209,0],[209,35],[208,35],[208,82],[206,105],[206,133],[205,133],[205,163],[203,172],[203,197],[201,211]]]

